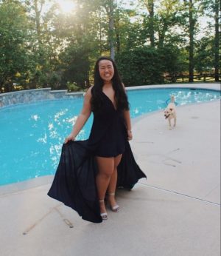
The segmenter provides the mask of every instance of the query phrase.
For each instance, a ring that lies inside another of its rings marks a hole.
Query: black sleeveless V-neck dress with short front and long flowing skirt
[[[94,112],[91,134],[85,141],[63,144],[60,162],[48,195],[78,212],[84,220],[102,222],[97,196],[97,163],[94,156],[122,154],[117,168],[117,186],[132,189],[139,178],[147,178],[133,158],[121,110],[116,110],[104,92],[102,107]]]

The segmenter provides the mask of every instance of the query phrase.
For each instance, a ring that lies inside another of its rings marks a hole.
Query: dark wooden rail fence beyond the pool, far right
[[[164,75],[164,83],[188,83],[189,75]],[[219,81],[221,81],[221,74],[218,75]],[[194,74],[193,75],[194,82],[214,82],[215,74],[207,73],[207,74]]]

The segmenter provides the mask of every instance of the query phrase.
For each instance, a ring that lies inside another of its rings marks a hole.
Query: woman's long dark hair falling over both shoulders
[[[112,78],[112,86],[115,92],[115,101],[116,107],[118,110],[129,110],[129,103],[127,101],[127,95],[124,91],[122,80],[119,76],[116,64],[112,58],[102,56],[98,58],[94,66],[94,87],[91,90],[91,107],[93,111],[99,110],[99,107],[102,107],[102,87],[104,86],[104,81],[99,75],[99,61],[108,60],[113,64],[114,74]]]

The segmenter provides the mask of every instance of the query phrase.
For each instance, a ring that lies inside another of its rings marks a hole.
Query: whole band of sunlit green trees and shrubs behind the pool
[[[111,49],[130,86],[163,83],[163,75],[188,73],[190,62],[197,72],[215,67],[218,75],[219,0],[194,1],[191,61],[190,1],[139,0],[127,7],[123,1],[73,1],[74,10],[62,13],[54,0],[0,0],[1,92],[73,83],[84,88],[96,59]],[[209,24],[198,40],[202,15]]]

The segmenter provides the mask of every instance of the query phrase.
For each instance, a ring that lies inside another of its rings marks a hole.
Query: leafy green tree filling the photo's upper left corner
[[[0,4],[0,35],[0,87],[8,92],[14,83],[27,84],[32,66],[29,23],[22,4]]]

